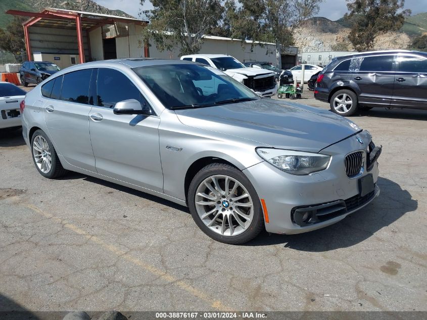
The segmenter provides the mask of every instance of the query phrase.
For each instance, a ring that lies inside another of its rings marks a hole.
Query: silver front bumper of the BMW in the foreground
[[[365,132],[365,131],[363,131]],[[367,148],[370,137],[365,133],[357,136],[364,141]],[[368,198],[355,202],[359,195],[359,179],[372,174],[376,184],[378,164],[375,162],[370,171],[364,171],[356,178],[349,178],[345,172],[345,155],[361,149],[355,136],[324,149],[321,153],[330,155],[331,162],[327,169],[309,175],[293,175],[281,171],[263,161],[244,170],[251,180],[261,199],[264,199],[268,211],[269,222],[265,223],[267,232],[277,234],[298,234],[313,231],[344,219],[347,215],[369,204],[379,195],[379,188]],[[364,149],[366,150],[366,149]],[[366,166],[366,164],[365,164]],[[324,221],[300,226],[293,220],[296,208],[328,203],[344,203],[343,211],[328,217]]]

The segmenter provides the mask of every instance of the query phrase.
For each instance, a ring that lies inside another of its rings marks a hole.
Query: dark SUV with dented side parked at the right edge
[[[399,50],[335,58],[318,75],[314,97],[343,116],[359,107],[427,109],[427,53]]]

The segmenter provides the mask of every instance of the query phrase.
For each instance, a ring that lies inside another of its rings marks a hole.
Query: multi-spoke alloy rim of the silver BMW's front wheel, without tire
[[[210,176],[199,185],[196,209],[206,226],[228,237],[245,232],[254,217],[249,192],[227,175]]]

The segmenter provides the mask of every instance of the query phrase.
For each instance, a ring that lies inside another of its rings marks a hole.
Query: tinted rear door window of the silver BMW
[[[92,69],[70,72],[64,75],[61,100],[89,104],[89,83]],[[110,88],[112,89],[112,88]]]

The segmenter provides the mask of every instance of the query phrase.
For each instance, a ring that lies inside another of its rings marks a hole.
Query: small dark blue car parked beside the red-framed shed
[[[59,70],[61,69],[56,64],[49,61],[27,61],[22,64],[19,77],[23,86],[28,83],[39,84]]]

